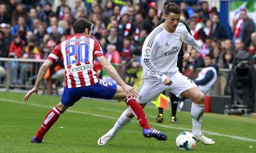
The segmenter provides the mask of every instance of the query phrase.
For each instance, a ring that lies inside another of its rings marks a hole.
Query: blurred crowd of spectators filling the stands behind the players
[[[74,0],[73,7],[60,0],[56,11],[53,1],[0,0],[0,57],[45,59],[56,44],[74,35],[72,23],[80,17],[93,23],[93,38],[98,40],[106,59],[119,72],[126,71],[129,84],[133,84],[140,70],[140,54],[143,41],[163,18],[163,8],[157,1],[145,0]],[[190,76],[198,67],[205,67],[205,55],[212,54],[220,68],[232,68],[237,52],[249,52],[256,57],[255,23],[241,10],[231,33],[220,23],[216,7],[206,1],[179,2],[181,20],[187,23],[191,34],[205,44],[202,49],[191,49],[188,62],[184,62],[184,74]],[[229,36],[229,37],[228,37]],[[189,46],[184,45],[184,51]],[[95,61],[97,72],[105,72]],[[12,64],[12,83],[22,83],[22,73],[29,64]],[[22,70],[20,70],[20,68]],[[18,71],[20,70],[20,71]],[[21,76],[21,77],[18,77]]]

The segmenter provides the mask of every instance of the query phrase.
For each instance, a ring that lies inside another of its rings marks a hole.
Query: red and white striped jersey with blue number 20
[[[56,62],[62,57],[65,67],[65,86],[78,88],[98,82],[99,78],[93,65],[93,60],[98,56],[103,56],[98,41],[77,33],[72,38],[59,43],[47,59]]]

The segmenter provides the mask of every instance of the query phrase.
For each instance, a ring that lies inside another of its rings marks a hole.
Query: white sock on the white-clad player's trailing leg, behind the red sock
[[[128,109],[124,110],[122,112],[122,115],[118,118],[117,122],[114,124],[113,128],[108,131],[109,134],[111,135],[116,135],[117,131],[120,130],[122,127],[126,126],[132,118],[127,117],[126,112]]]

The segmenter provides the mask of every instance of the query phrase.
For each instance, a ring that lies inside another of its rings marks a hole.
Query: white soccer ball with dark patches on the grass
[[[187,131],[179,133],[176,138],[176,146],[181,150],[192,150],[195,148],[196,143],[194,134]]]

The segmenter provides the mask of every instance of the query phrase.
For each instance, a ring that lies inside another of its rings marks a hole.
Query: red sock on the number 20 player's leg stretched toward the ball
[[[126,99],[126,104],[129,109],[132,111],[132,114],[137,118],[142,128],[150,129],[148,125],[147,117],[142,109],[142,106],[132,97]]]

